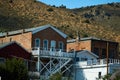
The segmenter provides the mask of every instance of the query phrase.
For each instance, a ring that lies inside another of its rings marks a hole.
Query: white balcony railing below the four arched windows
[[[32,55],[34,56],[56,56],[56,57],[75,57],[74,53],[67,53],[62,51],[51,51],[51,50],[40,50],[36,48],[32,50]]]

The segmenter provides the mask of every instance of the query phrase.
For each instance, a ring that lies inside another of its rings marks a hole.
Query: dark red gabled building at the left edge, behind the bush
[[[0,44],[0,63],[4,63],[8,58],[19,58],[25,61],[26,66],[31,59],[31,54],[16,42]]]

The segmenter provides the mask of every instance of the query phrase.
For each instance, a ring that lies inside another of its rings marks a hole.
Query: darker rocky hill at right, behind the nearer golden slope
[[[77,12],[91,24],[120,30],[120,3],[73,9],[73,12]]]

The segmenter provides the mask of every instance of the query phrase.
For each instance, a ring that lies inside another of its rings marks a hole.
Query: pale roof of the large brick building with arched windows
[[[35,34],[35,33],[39,32],[39,31],[42,31],[42,30],[47,29],[47,28],[53,29],[54,31],[56,31],[58,34],[60,34],[64,38],[67,37],[66,34],[64,34],[63,32],[61,32],[60,30],[58,30],[57,28],[53,27],[50,24],[39,26],[39,27],[35,27],[35,28],[21,29],[21,30],[16,30],[16,31],[10,31],[10,32],[7,32],[7,33],[0,33],[0,37],[6,36],[6,35],[9,36],[9,35],[20,34],[20,33],[23,33],[23,31],[24,32],[32,32],[32,34]]]

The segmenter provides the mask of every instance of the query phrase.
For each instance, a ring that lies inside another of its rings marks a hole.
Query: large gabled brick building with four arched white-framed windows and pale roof
[[[66,51],[67,35],[52,25],[0,33],[0,43],[11,41],[18,42],[28,51],[34,47]]]

